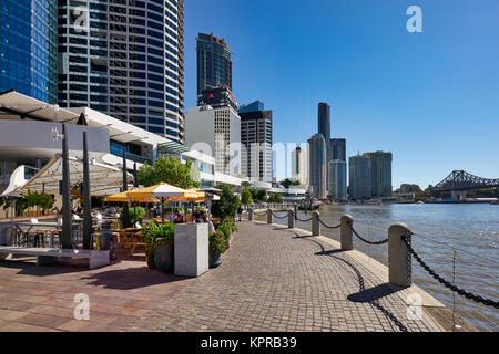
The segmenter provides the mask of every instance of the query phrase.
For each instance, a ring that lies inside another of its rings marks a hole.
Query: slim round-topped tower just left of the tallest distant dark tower
[[[315,198],[327,198],[327,145],[322,134],[308,139],[308,184],[313,188]]]

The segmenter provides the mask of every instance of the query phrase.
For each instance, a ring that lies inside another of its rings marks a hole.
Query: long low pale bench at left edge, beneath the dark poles
[[[8,259],[10,254],[16,256],[34,256],[37,257],[37,266],[51,264],[57,261],[64,260],[88,260],[89,268],[100,268],[108,266],[109,250],[93,251],[93,250],[71,250],[61,248],[26,248],[0,246],[0,260]]]

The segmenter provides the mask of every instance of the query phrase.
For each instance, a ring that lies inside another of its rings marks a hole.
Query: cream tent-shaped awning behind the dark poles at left
[[[70,157],[69,165],[71,186],[80,186],[83,181],[83,162],[77,157]],[[109,196],[120,191],[123,185],[123,171],[120,168],[94,162],[89,164],[89,170],[91,196]],[[128,183],[133,183],[133,176],[130,173],[126,173],[126,178]],[[9,192],[28,194],[29,189],[59,195],[60,180],[62,180],[62,157],[55,157],[22,187]]]

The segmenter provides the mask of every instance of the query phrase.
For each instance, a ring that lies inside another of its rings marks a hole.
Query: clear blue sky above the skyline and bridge
[[[422,33],[406,30],[411,4]],[[186,0],[185,105],[195,38],[213,32],[233,52],[237,102],[274,111],[274,142],[306,142],[328,102],[347,156],[394,154],[394,189],[452,169],[499,178],[498,23],[497,0]]]

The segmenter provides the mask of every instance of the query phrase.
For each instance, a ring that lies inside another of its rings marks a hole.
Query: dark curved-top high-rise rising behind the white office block
[[[224,39],[213,33],[197,35],[197,95],[206,88],[226,87],[232,92],[231,51]]]

